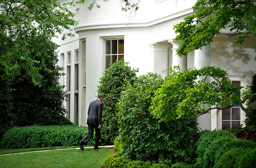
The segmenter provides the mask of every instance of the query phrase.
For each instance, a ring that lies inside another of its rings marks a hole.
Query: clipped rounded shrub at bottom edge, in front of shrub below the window
[[[220,157],[214,168],[237,168],[236,164],[246,150],[242,147],[228,150]]]

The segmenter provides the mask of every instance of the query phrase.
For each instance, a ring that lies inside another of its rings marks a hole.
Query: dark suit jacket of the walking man
[[[96,126],[101,125],[102,108],[103,108],[103,104],[102,102],[100,102],[100,100],[97,99],[90,102],[86,124],[95,124]]]

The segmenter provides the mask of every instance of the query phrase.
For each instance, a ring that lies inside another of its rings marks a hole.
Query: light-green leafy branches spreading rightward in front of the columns
[[[182,71],[174,66],[170,74],[155,92],[150,106],[154,117],[161,121],[197,118],[210,110],[224,110],[234,105],[240,105],[246,111],[242,103],[252,96],[247,91],[241,99],[242,87],[229,84],[227,72],[218,67]],[[210,77],[214,81],[208,82]]]

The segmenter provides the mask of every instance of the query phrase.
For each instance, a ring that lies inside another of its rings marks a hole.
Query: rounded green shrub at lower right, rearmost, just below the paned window
[[[196,158],[196,164],[200,167],[202,167],[204,164],[208,164],[208,162],[210,162],[212,158],[207,163],[204,163],[205,161],[203,158],[206,150],[208,150],[210,144],[214,142],[214,140],[219,140],[223,138],[235,139],[236,137],[230,132],[224,130],[203,131],[199,140],[196,142],[196,154],[198,156],[198,158]]]

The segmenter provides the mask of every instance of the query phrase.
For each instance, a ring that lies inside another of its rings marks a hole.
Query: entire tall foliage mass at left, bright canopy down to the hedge
[[[74,14],[59,0],[0,3],[0,136],[14,126],[61,124],[66,110],[52,38],[71,30]]]

